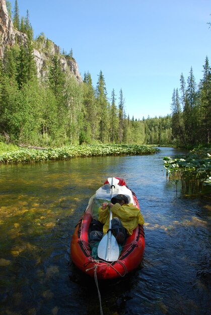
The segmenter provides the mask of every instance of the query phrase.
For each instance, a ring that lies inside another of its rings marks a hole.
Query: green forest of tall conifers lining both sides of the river
[[[47,52],[51,41],[42,33],[34,38],[29,13],[19,17],[18,2],[8,12],[14,27],[26,34],[24,43],[6,47],[0,60],[0,141],[18,145],[67,144],[174,144],[192,147],[210,142],[211,71],[208,57],[203,76],[195,82],[193,69],[180,89],[174,89],[171,115],[136,119],[125,110],[123,91],[107,92],[102,71],[96,87],[89,72],[83,82],[62,70],[61,56],[74,59],[73,51],[55,53],[38,77],[34,48]]]

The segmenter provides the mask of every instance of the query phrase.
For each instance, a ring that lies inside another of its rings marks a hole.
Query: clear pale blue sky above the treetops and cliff
[[[11,1],[12,9],[15,0]],[[102,70],[107,95],[119,91],[130,118],[171,113],[174,88],[193,68],[202,78],[211,64],[210,0],[18,0],[29,10],[35,37],[41,32],[61,50],[73,49],[79,71],[96,86]]]

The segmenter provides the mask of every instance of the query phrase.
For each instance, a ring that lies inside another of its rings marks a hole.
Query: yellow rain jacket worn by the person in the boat
[[[111,207],[111,211],[113,213],[113,217],[118,217],[122,225],[126,228],[127,233],[129,235],[132,234],[134,228],[136,228],[137,224],[144,224],[145,220],[140,213],[140,210],[136,208],[132,203],[123,204],[122,206],[119,203],[115,203]],[[98,220],[104,224],[103,225],[103,233],[107,233],[109,226],[109,207],[102,209],[102,207],[98,210],[99,217]]]

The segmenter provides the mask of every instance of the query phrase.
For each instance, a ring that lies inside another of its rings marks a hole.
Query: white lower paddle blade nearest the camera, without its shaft
[[[108,232],[100,241],[98,245],[98,257],[105,261],[118,260],[119,246],[113,234]]]

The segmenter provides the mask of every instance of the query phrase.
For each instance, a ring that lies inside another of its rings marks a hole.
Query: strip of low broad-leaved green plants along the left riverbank
[[[159,149],[149,145],[99,144],[70,145],[59,148],[18,148],[8,152],[0,152],[0,163],[37,163],[47,161],[69,160],[74,157],[105,155],[141,155],[154,154]]]

